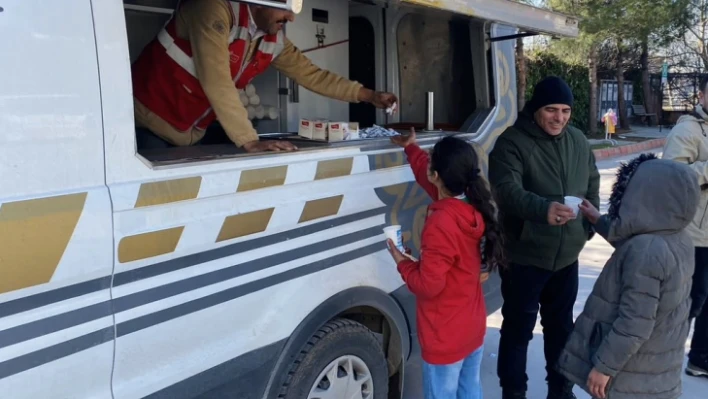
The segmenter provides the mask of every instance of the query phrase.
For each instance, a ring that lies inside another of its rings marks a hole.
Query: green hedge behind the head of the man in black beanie
[[[565,80],[575,97],[570,123],[587,134],[590,113],[590,81],[588,68],[568,64],[553,54],[538,53],[527,59],[526,100],[531,99],[533,87],[547,76]]]

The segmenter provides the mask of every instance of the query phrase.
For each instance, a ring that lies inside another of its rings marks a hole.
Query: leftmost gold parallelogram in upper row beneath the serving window
[[[135,207],[141,208],[195,199],[199,195],[201,185],[201,176],[143,183],[140,185]]]

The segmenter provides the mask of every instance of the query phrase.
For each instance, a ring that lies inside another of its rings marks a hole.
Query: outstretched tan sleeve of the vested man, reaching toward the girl
[[[359,102],[359,90],[363,87],[361,83],[345,79],[316,66],[287,38],[285,48],[273,60],[272,65],[312,92],[340,101]]]

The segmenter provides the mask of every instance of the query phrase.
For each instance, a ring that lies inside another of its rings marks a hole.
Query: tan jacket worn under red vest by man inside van
[[[229,3],[224,0],[183,1],[177,12],[176,27],[177,36],[189,40],[192,45],[197,76],[217,119],[229,138],[240,147],[249,141],[258,140],[258,135],[248,120],[246,108],[231,79],[228,49],[230,29],[219,32],[212,28],[217,22],[221,22],[221,26],[233,25],[229,7]],[[251,41],[244,62],[250,62],[253,58],[259,41],[260,38]],[[285,48],[273,60],[272,66],[312,92],[341,101],[358,102],[362,87],[360,83],[320,69],[288,39],[285,39]],[[178,146],[193,145],[204,137],[204,131],[199,129],[178,131],[134,100],[136,124],[168,142]]]

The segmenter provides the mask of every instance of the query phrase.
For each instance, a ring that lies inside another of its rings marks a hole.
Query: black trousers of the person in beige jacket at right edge
[[[698,357],[708,356],[708,248],[696,247],[696,271],[691,287],[691,315],[695,318],[691,351],[688,359],[697,362]]]

